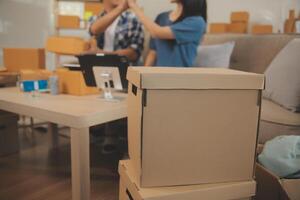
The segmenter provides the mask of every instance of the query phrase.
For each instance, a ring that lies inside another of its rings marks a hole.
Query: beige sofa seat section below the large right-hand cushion
[[[300,113],[286,110],[267,99],[262,101],[261,119],[277,124],[300,126]]]

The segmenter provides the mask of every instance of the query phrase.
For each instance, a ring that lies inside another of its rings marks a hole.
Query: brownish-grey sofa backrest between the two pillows
[[[247,72],[264,73],[274,57],[296,34],[206,34],[203,45],[235,41],[230,68]]]

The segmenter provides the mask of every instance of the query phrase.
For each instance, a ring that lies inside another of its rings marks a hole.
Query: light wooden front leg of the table
[[[90,199],[89,128],[71,128],[72,199]]]

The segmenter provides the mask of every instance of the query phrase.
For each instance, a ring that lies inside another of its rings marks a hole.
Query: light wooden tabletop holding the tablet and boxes
[[[108,102],[99,95],[71,96],[39,93],[33,97],[18,88],[0,89],[0,109],[73,128],[86,128],[127,117],[127,94]]]

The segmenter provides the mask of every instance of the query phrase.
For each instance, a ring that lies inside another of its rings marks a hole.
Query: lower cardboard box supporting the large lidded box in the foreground
[[[141,188],[128,161],[120,161],[119,200],[246,200],[255,195],[255,181]]]

